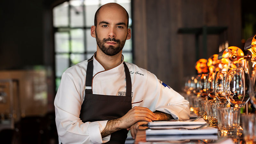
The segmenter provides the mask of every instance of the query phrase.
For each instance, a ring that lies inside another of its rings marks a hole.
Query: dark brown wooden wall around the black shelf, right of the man
[[[227,37],[231,45],[241,41],[239,0],[134,0],[134,63],[180,91],[185,76],[196,74],[195,35],[178,34],[179,28],[227,26],[227,36],[207,36],[207,58],[218,53]],[[199,58],[203,58],[202,36]]]

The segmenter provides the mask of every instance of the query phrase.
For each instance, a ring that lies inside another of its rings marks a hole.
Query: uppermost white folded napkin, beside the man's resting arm
[[[160,125],[203,125],[206,124],[203,118],[199,118],[197,121],[153,121],[149,122],[148,126],[160,126]]]

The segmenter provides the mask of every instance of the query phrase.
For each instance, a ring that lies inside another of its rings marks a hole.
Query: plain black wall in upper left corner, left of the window
[[[1,1],[0,69],[44,64],[42,13],[40,0]]]

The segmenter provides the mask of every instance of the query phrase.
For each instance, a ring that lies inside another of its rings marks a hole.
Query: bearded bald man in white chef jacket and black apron
[[[59,143],[124,143],[127,130],[135,138],[139,125],[189,118],[188,101],[180,94],[124,62],[128,18],[116,3],[97,10],[91,28],[97,52],[63,73],[54,100]]]

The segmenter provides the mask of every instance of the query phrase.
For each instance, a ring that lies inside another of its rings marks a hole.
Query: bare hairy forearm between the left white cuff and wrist
[[[121,121],[119,120],[119,118],[109,120],[106,124],[105,129],[100,133],[101,137],[104,138],[113,132],[121,130],[122,128],[120,127],[120,123],[121,123]]]

